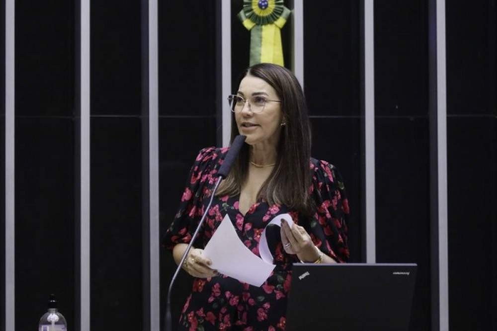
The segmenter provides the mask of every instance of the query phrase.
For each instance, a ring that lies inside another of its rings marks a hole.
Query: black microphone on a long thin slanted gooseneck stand
[[[166,330],[166,331],[172,331],[172,317],[171,317],[172,285],[174,284],[174,281],[176,280],[176,276],[178,275],[179,270],[181,269],[181,266],[183,265],[183,262],[186,259],[186,256],[188,256],[188,252],[190,251],[190,249],[193,245],[193,242],[195,242],[195,239],[197,238],[197,234],[200,231],[202,224],[204,223],[205,216],[209,212],[209,208],[211,207],[212,200],[214,199],[214,195],[216,194],[217,188],[218,188],[219,184],[221,183],[221,180],[226,178],[226,176],[230,172],[231,166],[233,165],[233,162],[235,162],[235,159],[237,158],[238,154],[240,153],[240,149],[242,148],[242,145],[244,144],[246,138],[247,138],[246,136],[238,135],[233,140],[233,143],[230,146],[230,150],[228,151],[228,154],[226,154],[226,157],[223,160],[223,164],[221,165],[218,172],[216,173],[216,176],[218,176],[218,180],[216,181],[216,185],[214,186],[214,189],[212,190],[211,199],[209,201],[209,204],[207,205],[207,208],[205,208],[205,212],[202,215],[200,222],[198,222],[197,228],[195,229],[195,233],[193,233],[193,236],[191,236],[190,243],[188,244],[188,247],[183,252],[183,256],[181,256],[181,260],[179,261],[178,267],[176,268],[176,271],[172,275],[171,282],[169,283],[169,289],[167,290],[166,319],[164,321],[164,323],[165,323],[164,330]]]

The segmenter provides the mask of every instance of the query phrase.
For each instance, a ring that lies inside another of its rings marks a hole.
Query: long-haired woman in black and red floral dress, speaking
[[[179,330],[284,330],[292,263],[348,259],[348,203],[333,165],[310,157],[307,106],[290,71],[272,64],[252,66],[229,101],[232,139],[238,134],[247,139],[183,265],[196,278]],[[176,263],[204,212],[227,150],[203,149],[191,168],[179,211],[165,237]],[[276,267],[261,287],[218,274],[202,256],[202,248],[226,214],[240,240],[258,255],[266,224],[283,213],[292,216],[294,225],[282,224],[281,240],[272,249]]]

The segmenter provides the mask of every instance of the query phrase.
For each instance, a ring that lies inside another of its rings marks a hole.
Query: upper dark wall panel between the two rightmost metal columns
[[[375,113],[428,114],[428,1],[375,1]]]

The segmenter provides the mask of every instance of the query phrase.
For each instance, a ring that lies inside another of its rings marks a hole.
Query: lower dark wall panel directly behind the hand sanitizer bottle
[[[74,329],[74,127],[71,119],[17,118],[15,324],[36,328],[54,293]]]

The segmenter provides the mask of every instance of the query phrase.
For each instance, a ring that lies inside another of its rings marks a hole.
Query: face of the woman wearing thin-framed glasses
[[[247,136],[245,142],[249,145],[268,143],[276,146],[283,120],[281,102],[266,101],[261,112],[254,113],[251,111],[251,108],[254,107],[251,104],[252,100],[260,101],[259,98],[280,100],[274,88],[260,78],[248,75],[240,83],[238,95],[249,100],[241,111],[235,112],[238,131],[240,134]],[[248,103],[250,103],[250,106]]]

